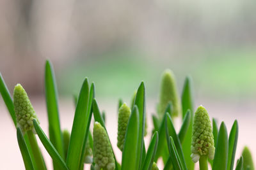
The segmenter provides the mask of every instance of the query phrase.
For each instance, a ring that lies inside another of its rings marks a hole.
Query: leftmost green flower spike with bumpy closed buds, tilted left
[[[13,104],[17,126],[20,127],[23,133],[31,130],[35,133],[33,119],[35,118],[37,122],[39,121],[26,91],[20,84],[17,84],[13,90]]]

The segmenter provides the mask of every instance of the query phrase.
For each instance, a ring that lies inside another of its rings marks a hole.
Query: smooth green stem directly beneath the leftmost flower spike
[[[38,147],[36,136],[32,131],[27,131],[29,143],[32,149],[33,156],[35,158],[35,169],[38,170],[46,170],[44,159],[42,157],[42,153],[40,151],[40,148]]]

